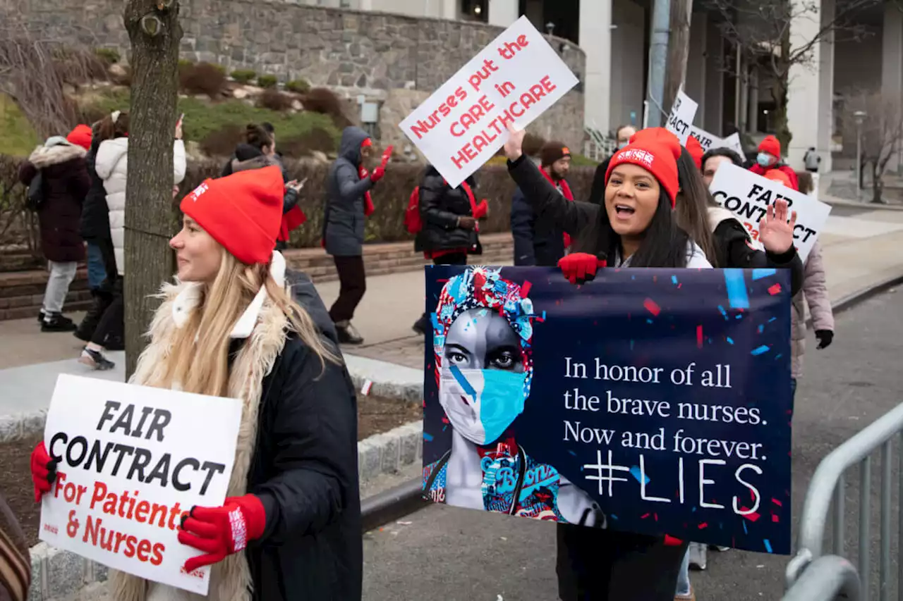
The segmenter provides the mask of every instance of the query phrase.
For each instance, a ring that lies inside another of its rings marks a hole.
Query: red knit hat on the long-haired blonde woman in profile
[[[246,265],[268,264],[283,217],[285,186],[276,165],[204,180],[182,213]]]

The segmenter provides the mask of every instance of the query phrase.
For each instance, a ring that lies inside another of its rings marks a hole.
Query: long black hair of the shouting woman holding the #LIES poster
[[[630,259],[631,267],[686,267],[690,236],[677,227],[671,199],[664,188],[658,196],[658,207],[652,215],[643,242]],[[610,264],[615,254],[624,256],[620,236],[611,227],[609,212],[602,203],[599,218],[582,229],[574,243],[574,252],[605,255]]]

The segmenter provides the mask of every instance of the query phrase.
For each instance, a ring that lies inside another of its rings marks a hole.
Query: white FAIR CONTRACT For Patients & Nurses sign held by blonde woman
[[[61,375],[44,444],[60,458],[43,495],[41,540],[140,578],[207,595],[209,568],[177,528],[226,499],[241,402]]]

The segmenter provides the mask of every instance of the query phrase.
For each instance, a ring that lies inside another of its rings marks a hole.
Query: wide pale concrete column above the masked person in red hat
[[[807,0],[791,0],[796,12],[803,12]],[[807,12],[790,23],[790,45],[812,40],[822,27],[833,19],[833,0],[820,0],[819,18]],[[825,36],[813,48],[812,63],[793,65],[788,75],[787,125],[793,139],[784,149],[787,162],[794,169],[803,169],[803,157],[810,147],[822,157],[821,171],[831,170],[831,134],[833,134],[833,38]]]

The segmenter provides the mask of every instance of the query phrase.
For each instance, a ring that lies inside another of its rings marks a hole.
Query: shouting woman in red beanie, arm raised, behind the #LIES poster
[[[711,267],[677,227],[679,189],[674,134],[638,133],[611,157],[603,205],[569,202],[526,161],[524,132],[508,128],[508,172],[537,214],[573,236],[559,265],[571,282],[591,280],[600,267]],[[626,318],[626,316],[625,316]],[[567,601],[671,601],[687,544],[630,532],[558,524],[558,590]],[[630,552],[619,550],[629,549]],[[655,578],[636,578],[654,574]]]

